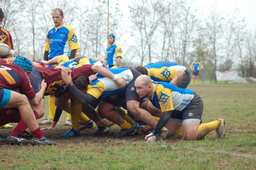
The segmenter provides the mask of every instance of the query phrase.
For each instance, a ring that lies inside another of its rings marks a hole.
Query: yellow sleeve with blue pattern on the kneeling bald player
[[[172,91],[170,89],[161,86],[161,90],[157,92],[157,98],[162,112],[174,110],[172,104]]]

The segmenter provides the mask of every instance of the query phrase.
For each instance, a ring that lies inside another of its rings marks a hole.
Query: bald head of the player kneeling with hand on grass
[[[151,97],[153,83],[147,75],[140,75],[135,81],[136,92],[140,98]]]

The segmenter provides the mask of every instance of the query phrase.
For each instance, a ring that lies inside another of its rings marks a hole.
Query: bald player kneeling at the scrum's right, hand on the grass
[[[195,92],[166,82],[152,82],[146,75],[139,76],[135,86],[140,98],[149,98],[151,103],[163,112],[154,130],[145,136],[146,141],[156,141],[157,133],[168,121],[172,122],[173,135],[182,126],[186,140],[203,138],[213,130],[216,130],[217,138],[225,136],[225,121],[222,118],[200,124],[204,105],[201,97]]]

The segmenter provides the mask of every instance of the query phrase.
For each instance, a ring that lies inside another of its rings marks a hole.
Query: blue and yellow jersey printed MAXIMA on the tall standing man
[[[79,43],[73,28],[64,23],[58,27],[52,27],[46,37],[44,50],[49,51],[49,59],[58,55],[70,56],[70,51],[79,49]]]

